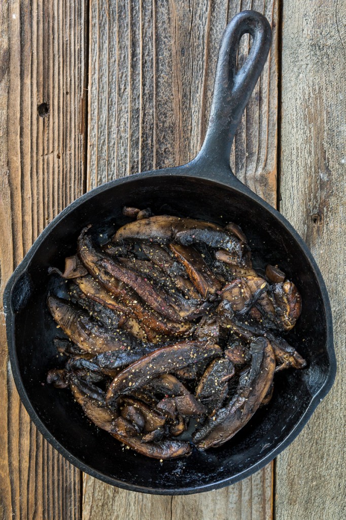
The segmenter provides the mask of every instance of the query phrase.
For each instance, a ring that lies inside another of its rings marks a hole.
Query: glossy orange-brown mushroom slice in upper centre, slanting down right
[[[180,244],[169,244],[169,248],[185,267],[190,280],[205,299],[221,288],[219,280],[209,269],[201,253],[194,248],[184,247]]]

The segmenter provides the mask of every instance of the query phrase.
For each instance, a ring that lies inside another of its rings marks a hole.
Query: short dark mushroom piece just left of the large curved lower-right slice
[[[227,358],[214,359],[199,381],[195,396],[198,399],[215,399],[222,391],[225,382],[234,375],[233,363]]]

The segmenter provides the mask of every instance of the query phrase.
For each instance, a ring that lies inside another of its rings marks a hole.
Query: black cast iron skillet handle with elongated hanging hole
[[[252,46],[239,70],[237,50],[241,37],[249,33]],[[209,124],[196,159],[230,168],[231,146],[236,128],[267,60],[272,30],[257,11],[239,12],[227,25],[219,52]]]

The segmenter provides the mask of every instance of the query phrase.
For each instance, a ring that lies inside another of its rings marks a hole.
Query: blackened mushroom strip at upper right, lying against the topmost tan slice
[[[176,234],[175,239],[182,245],[192,245],[196,242],[204,242],[214,249],[225,249],[236,259],[236,263],[240,265],[246,264],[246,259],[243,255],[248,251],[248,247],[244,242],[230,235],[221,228],[216,229],[189,229],[187,231],[180,231]]]

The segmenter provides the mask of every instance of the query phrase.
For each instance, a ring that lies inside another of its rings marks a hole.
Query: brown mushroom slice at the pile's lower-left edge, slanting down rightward
[[[73,397],[81,405],[88,419],[102,430],[110,432],[116,413],[105,408],[102,400],[92,397],[93,394],[90,395],[88,387],[81,384],[76,377],[72,378],[70,387]]]

